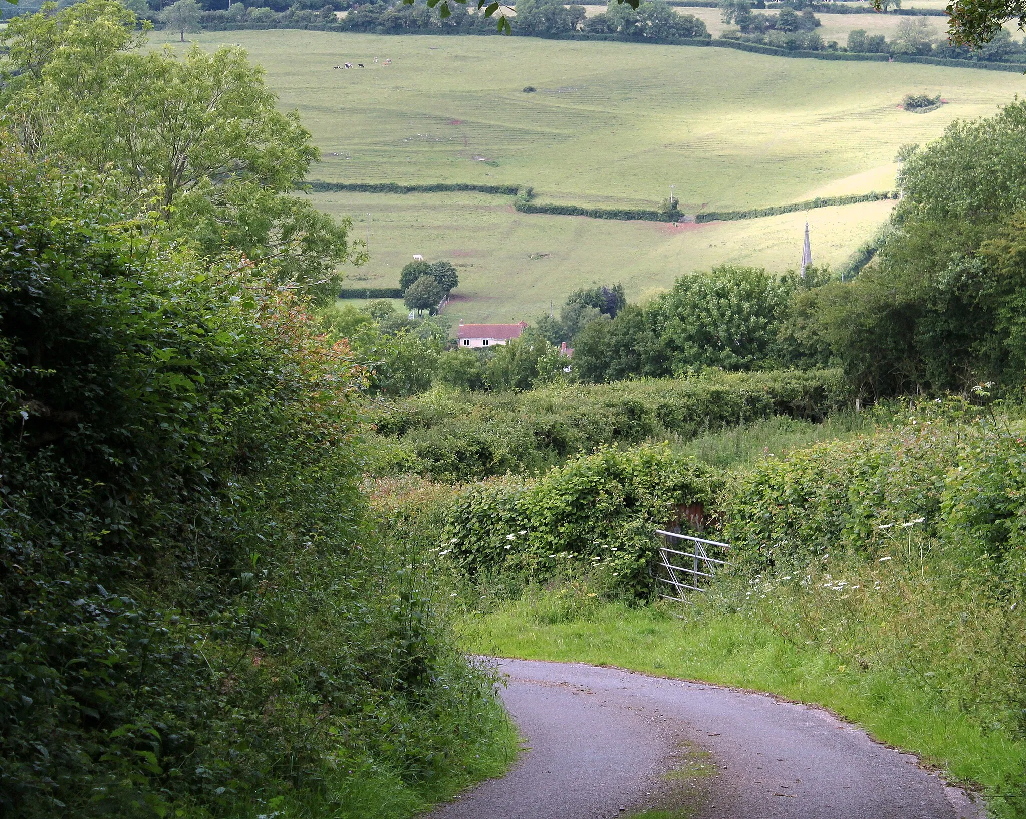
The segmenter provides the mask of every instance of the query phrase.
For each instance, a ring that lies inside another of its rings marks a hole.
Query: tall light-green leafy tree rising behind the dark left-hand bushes
[[[22,74],[8,122],[34,155],[110,173],[209,260],[241,251],[320,300],[340,264],[362,259],[348,220],[293,195],[317,150],[240,49],[142,53],[134,16],[113,0],[28,15],[3,38]]]

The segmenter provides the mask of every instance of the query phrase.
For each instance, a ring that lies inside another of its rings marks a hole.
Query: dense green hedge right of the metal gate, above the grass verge
[[[960,404],[913,414],[907,426],[771,458],[745,474],[725,510],[741,564],[796,569],[843,551],[878,559],[914,538],[991,573],[992,591],[1021,600],[1026,442]]]

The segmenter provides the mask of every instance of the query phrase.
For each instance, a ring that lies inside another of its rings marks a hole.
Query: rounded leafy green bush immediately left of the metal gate
[[[644,594],[655,529],[682,505],[712,503],[721,478],[666,445],[599,447],[537,481],[500,478],[461,493],[441,554],[470,574],[514,572],[540,581],[569,569],[604,574]]]

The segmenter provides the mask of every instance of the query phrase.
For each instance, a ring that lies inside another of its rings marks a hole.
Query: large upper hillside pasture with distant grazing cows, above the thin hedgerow
[[[324,153],[313,177],[524,184],[543,201],[594,205],[650,206],[675,185],[689,212],[806,199],[873,170],[883,183],[899,146],[1026,87],[1005,72],[640,43],[294,30],[197,39],[240,43],[267,69]],[[346,61],[367,68],[331,68]],[[898,104],[909,91],[951,104],[908,114]]]

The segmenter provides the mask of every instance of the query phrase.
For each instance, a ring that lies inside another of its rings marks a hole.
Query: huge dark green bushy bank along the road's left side
[[[366,524],[346,345],[105,190],[0,156],[0,812],[412,813],[495,772],[489,674]]]

